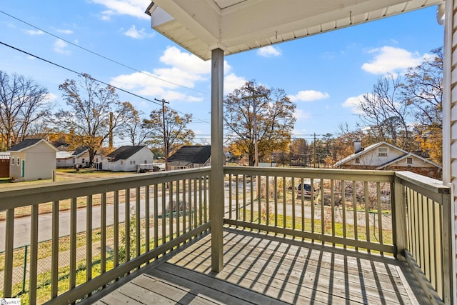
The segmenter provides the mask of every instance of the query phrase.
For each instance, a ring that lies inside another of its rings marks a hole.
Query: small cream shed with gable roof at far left
[[[51,179],[56,170],[56,149],[44,139],[28,139],[8,149],[9,176],[16,181]]]

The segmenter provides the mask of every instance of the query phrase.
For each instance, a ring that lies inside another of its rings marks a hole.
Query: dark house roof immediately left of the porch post
[[[211,157],[211,145],[185,145],[172,154],[168,161],[172,166],[188,166],[189,164],[205,164]]]

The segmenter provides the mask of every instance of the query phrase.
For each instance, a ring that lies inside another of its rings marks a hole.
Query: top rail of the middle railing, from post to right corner
[[[373,182],[393,182],[394,171],[356,169],[304,169],[282,167],[224,166],[225,174],[248,174],[260,176],[286,176],[310,179],[338,179]]]

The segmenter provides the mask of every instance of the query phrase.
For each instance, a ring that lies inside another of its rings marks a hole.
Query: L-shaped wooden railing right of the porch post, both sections
[[[408,261],[431,301],[453,304],[451,199],[441,181],[409,172],[241,166],[224,174],[225,224],[392,254]]]

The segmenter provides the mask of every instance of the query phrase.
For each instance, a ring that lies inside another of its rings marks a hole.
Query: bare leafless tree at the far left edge
[[[31,136],[34,124],[50,115],[48,90],[32,79],[0,71],[0,142],[11,147]]]

